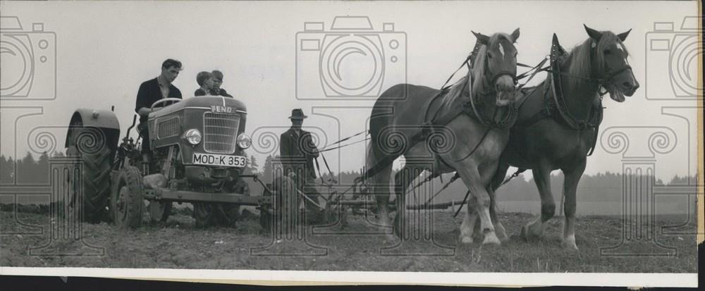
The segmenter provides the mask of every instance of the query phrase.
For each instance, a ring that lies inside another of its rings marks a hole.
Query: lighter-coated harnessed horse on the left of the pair
[[[428,164],[409,161],[430,157],[432,175],[457,171],[473,198],[477,199],[482,230],[486,232],[483,243],[500,244],[489,216],[487,189],[509,139],[509,126],[499,125],[510,123],[511,116],[516,116],[516,108],[510,105],[517,97],[517,49],[514,44],[519,29],[510,35],[496,33],[488,37],[473,34],[477,38],[477,54],[471,56],[477,65],[470,68],[466,60],[470,70],[453,86],[439,90],[420,85],[394,85],[378,97],[372,108],[366,165],[383,228],[391,226],[387,204],[392,162],[399,156],[404,156],[407,161],[396,173],[394,183],[397,210],[393,233],[399,237],[402,237],[400,229],[407,189],[417,175],[431,170]],[[467,109],[469,105],[472,110]],[[434,140],[431,136],[442,137]],[[426,142],[419,142],[421,140]],[[432,144],[443,144],[439,146],[443,149],[434,148]],[[405,179],[405,173],[413,174]],[[497,229],[498,233],[505,235],[501,225]]]

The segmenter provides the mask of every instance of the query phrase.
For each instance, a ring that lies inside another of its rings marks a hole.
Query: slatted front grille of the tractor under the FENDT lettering
[[[203,147],[209,153],[233,154],[240,116],[206,112],[203,115]]]

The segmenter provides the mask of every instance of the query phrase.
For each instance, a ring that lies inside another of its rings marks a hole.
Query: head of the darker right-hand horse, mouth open
[[[615,35],[610,31],[599,32],[587,25],[583,26],[591,40],[593,75],[600,80],[600,85],[607,89],[614,101],[623,102],[625,95],[631,97],[639,88],[623,44],[632,30]]]

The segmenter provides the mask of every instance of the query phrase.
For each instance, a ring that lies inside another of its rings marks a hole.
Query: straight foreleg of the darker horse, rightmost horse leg
[[[575,194],[577,192],[577,183],[580,182],[582,173],[585,171],[586,159],[579,161],[575,168],[561,169],[565,175],[563,182],[563,195],[565,202],[563,204],[563,213],[565,220],[563,221],[563,246],[570,249],[577,249],[575,244],[575,209],[576,201]]]

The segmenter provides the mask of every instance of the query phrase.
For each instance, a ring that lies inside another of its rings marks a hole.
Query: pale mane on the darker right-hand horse
[[[616,43],[625,51],[627,56],[629,56],[629,51],[627,51],[627,47],[624,46],[622,40],[620,40],[619,37],[617,37],[617,35],[615,35],[613,32],[604,31],[602,32],[602,37],[600,38],[600,41],[597,42],[595,46],[595,63],[597,65],[597,68],[592,68],[590,54],[593,42],[593,39],[588,37],[587,39],[585,39],[584,42],[582,42],[582,44],[578,44],[575,48],[573,48],[572,51],[570,51],[570,53],[568,54],[568,57],[565,58],[564,64],[570,63],[570,68],[568,68],[568,73],[570,75],[591,78],[593,69],[597,70],[598,72],[602,72],[604,70],[603,66],[605,58],[603,51],[609,44]],[[575,87],[577,85],[581,85],[582,82],[585,81],[586,80],[583,80],[581,78],[569,78],[568,84],[571,87]]]

